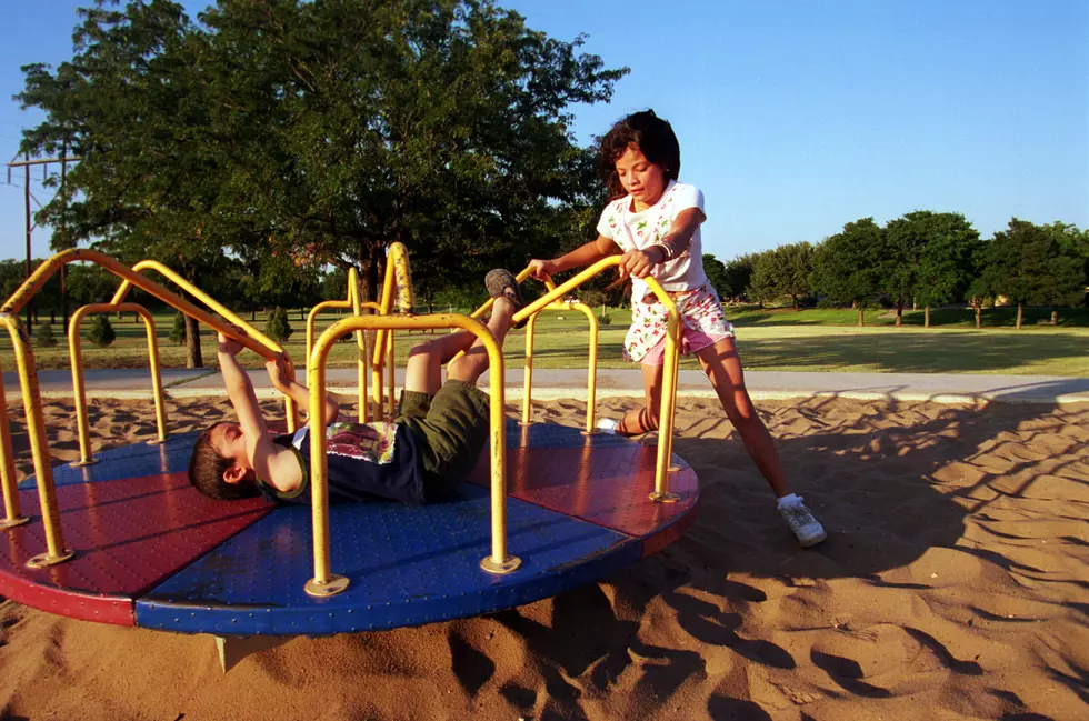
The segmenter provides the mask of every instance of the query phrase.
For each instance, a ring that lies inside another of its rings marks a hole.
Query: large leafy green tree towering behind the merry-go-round
[[[198,21],[99,0],[81,18],[70,62],[24,69],[20,100],[47,114],[24,149],[82,158],[39,220],[212,294],[236,261],[262,293],[356,266],[373,299],[393,241],[421,281],[467,282],[581,238],[599,189],[567,109],[627,72],[483,0],[219,0]]]

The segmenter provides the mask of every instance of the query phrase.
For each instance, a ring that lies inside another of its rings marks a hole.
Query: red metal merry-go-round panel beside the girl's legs
[[[508,448],[507,491],[513,498],[597,523],[628,535],[645,538],[669,532],[675,521],[695,511],[699,497],[696,472],[676,455],[681,470],[670,473],[677,503],[650,500],[655,490],[658,449],[639,443],[561,448]],[[489,484],[484,453],[470,480]],[[680,534],[655,541],[665,548]],[[653,552],[653,551],[648,551]]]

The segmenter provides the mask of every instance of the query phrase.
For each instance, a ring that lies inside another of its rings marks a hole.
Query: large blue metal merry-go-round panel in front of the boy
[[[477,615],[592,582],[641,557],[638,540],[508,499],[508,575],[480,569],[491,550],[490,501],[466,484],[433,505],[331,509],[333,572],[351,585],[329,599],[312,575],[310,509],[280,507],[137,601],[137,625],[183,633],[309,634],[389,629]]]

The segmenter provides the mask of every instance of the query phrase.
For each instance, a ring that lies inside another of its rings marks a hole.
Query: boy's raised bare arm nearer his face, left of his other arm
[[[291,451],[272,442],[253,392],[253,383],[234,358],[240,350],[242,347],[239,343],[220,333],[219,370],[246,438],[246,455],[258,478],[281,491],[292,491],[302,482],[302,469]]]

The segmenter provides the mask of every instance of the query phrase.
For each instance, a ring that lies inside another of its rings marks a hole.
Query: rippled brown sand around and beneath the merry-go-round
[[[93,405],[100,448],[153,433],[150,403]],[[172,402],[171,430],[226,409]],[[210,637],[8,601],[0,719],[1089,719],[1089,405],[759,410],[830,531],[816,549],[779,522],[721,408],[682,401],[699,519],[621,573],[488,617],[296,639],[226,677]],[[47,413],[58,461],[76,458],[71,402]]]

